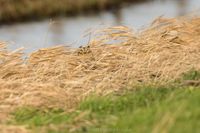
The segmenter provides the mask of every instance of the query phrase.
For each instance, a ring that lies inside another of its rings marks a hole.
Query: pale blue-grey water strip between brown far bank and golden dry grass
[[[113,11],[40,22],[27,22],[0,27],[0,41],[9,42],[9,49],[24,47],[26,53],[55,45],[78,47],[88,41],[83,37],[89,29],[126,25],[140,29],[155,18],[200,13],[200,0],[152,0],[124,6]]]

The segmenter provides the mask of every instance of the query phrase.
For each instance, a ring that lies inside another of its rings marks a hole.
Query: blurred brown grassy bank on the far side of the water
[[[117,8],[141,0],[0,0],[0,23]]]

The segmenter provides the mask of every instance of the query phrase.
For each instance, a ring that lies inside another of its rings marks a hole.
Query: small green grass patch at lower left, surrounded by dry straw
[[[66,114],[62,109],[40,110],[31,107],[20,108],[13,113],[15,123],[29,126],[59,124],[69,121],[71,118],[70,115]]]

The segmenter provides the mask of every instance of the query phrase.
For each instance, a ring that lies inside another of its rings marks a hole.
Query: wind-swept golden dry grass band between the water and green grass
[[[89,52],[58,46],[26,60],[20,49],[9,52],[1,43],[1,123],[16,107],[67,110],[93,92],[106,95],[140,82],[166,83],[200,69],[199,27],[200,18],[158,18],[140,33],[122,26],[97,32]]]

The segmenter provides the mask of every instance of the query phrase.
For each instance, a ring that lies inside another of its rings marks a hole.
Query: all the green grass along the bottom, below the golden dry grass
[[[199,80],[191,70],[182,80]],[[71,112],[24,107],[12,113],[11,125],[48,133],[198,133],[200,87],[140,86],[123,95],[91,95]]]

